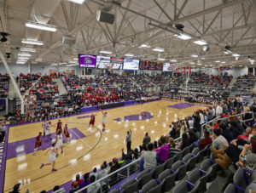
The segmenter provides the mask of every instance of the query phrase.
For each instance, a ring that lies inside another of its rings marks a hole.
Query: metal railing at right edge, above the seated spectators
[[[249,118],[249,119],[242,119],[242,116],[244,116],[244,115],[246,115],[246,114],[251,114],[251,115],[252,115],[252,118]],[[235,116],[238,117],[238,118],[239,118],[239,121],[240,121],[241,123],[244,123],[244,124],[246,124],[245,122],[253,121],[253,119],[254,119],[254,114],[253,114],[252,111],[242,112],[242,113],[237,114],[237,115],[235,115]],[[202,124],[202,125],[201,125],[201,136],[203,136],[203,129],[204,129],[204,128],[207,128],[207,130],[212,133],[212,125],[213,125],[214,123],[218,122],[219,120],[224,120],[224,119],[227,119],[227,118],[230,118],[230,117],[235,117],[235,116],[228,116],[228,117],[224,117],[224,118],[216,117],[216,118],[212,119],[211,121]],[[212,125],[211,125],[211,123],[212,123]]]

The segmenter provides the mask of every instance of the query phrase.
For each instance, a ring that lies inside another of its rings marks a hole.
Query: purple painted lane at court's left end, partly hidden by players
[[[70,139],[81,139],[84,138],[85,135],[79,131],[77,128],[71,128],[69,129],[70,133]],[[75,134],[74,134],[75,133]],[[51,138],[55,139],[56,134],[52,133]],[[34,151],[35,147],[35,138],[31,139],[25,139],[25,140],[20,140],[20,141],[15,141],[13,143],[8,144],[8,151],[7,151],[7,159],[14,158],[16,156],[23,156],[29,153],[32,153]],[[67,143],[67,139],[64,137],[63,142]],[[39,150],[44,150],[49,148],[51,145],[51,140],[49,139],[48,141],[45,141],[44,138],[42,138],[42,146]]]

